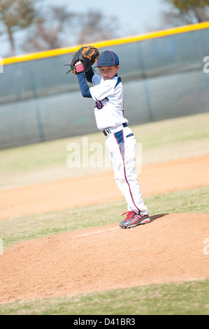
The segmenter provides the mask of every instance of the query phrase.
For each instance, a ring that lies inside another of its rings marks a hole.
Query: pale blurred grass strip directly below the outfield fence
[[[143,165],[209,152],[209,113],[163,120],[132,127],[142,143]],[[89,145],[105,146],[101,132],[89,134]],[[0,150],[0,189],[94,174],[104,168],[71,168],[66,165],[68,144],[77,143],[82,153],[82,137],[69,137],[45,143]],[[108,169],[110,170],[110,169]]]

